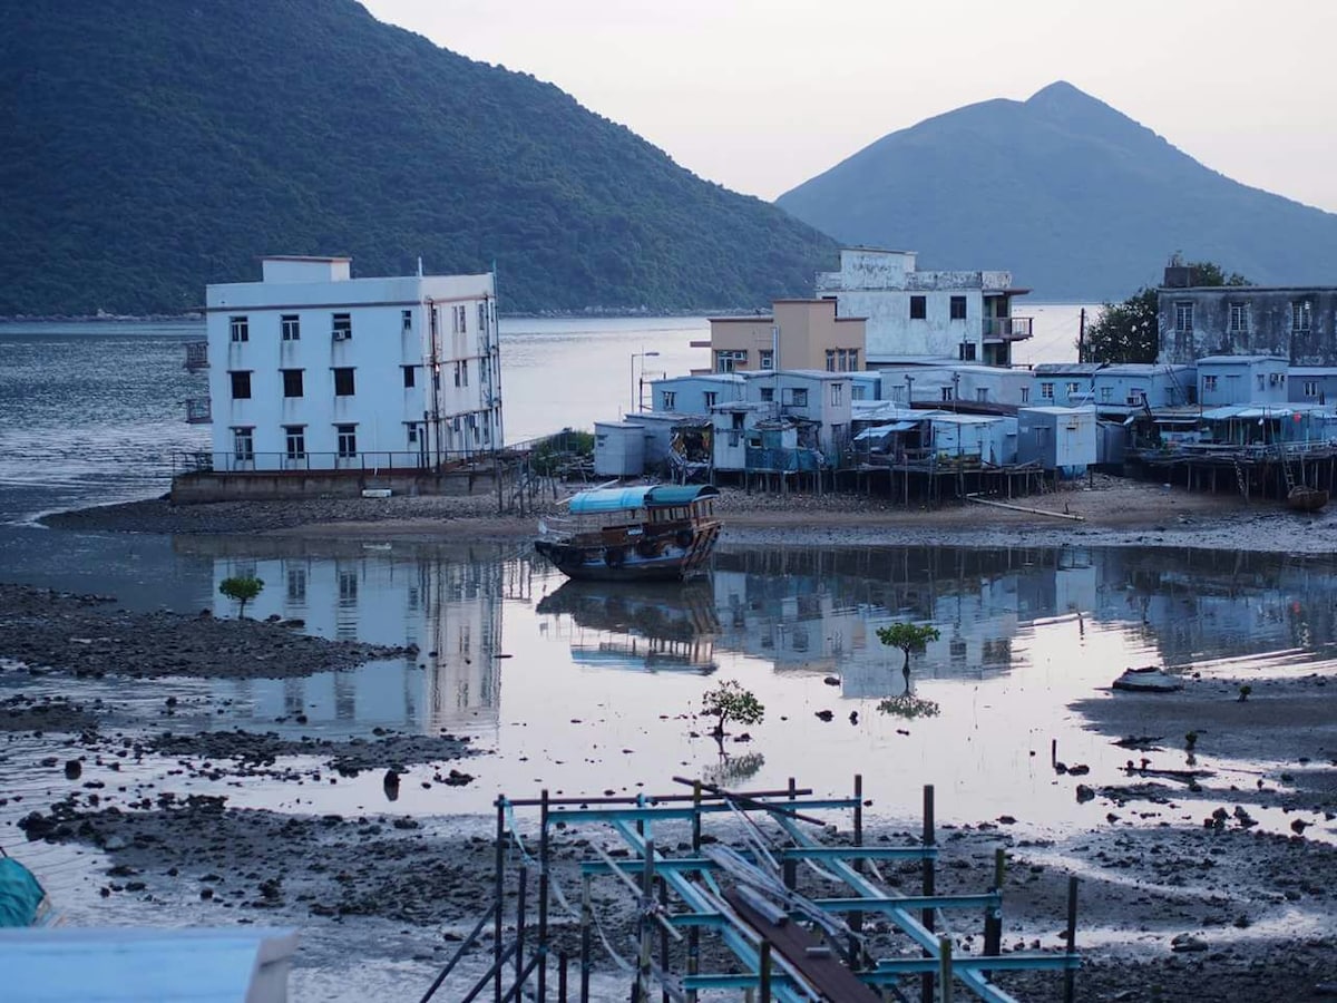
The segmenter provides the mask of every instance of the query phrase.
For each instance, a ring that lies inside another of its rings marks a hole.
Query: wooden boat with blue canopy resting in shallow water
[[[566,502],[570,518],[540,520],[533,548],[579,580],[681,580],[715,548],[718,496],[709,484],[582,491]]]

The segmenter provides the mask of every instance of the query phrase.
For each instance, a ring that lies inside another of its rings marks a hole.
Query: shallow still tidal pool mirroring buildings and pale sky
[[[242,562],[270,582],[258,618],[302,619],[330,638],[352,623],[364,641],[418,647],[416,658],[350,673],[210,681],[231,701],[218,726],[270,729],[301,714],[303,734],[468,733],[495,754],[476,760],[476,784],[452,789],[455,810],[488,810],[497,792],[539,784],[655,790],[690,774],[765,786],[798,777],[837,790],[865,772],[882,805],[910,804],[920,785],[937,784],[953,792],[957,818],[1023,806],[1032,820],[1071,818],[1087,806],[1067,777],[1036,768],[1036,752],[1056,741],[1090,765],[1092,786],[1119,782],[1126,750],[1083,729],[1070,706],[1130,665],[1261,678],[1297,666],[1330,673],[1334,655],[1337,563],[1322,558],[771,547],[723,550],[710,579],[687,587],[628,587],[564,583],[520,546],[176,546],[213,562],[214,590]],[[915,657],[913,687],[901,653],[877,639],[896,622],[940,631]],[[714,742],[691,737],[713,682],[701,677],[715,666],[766,706],[749,729],[757,752],[719,758]],[[1148,752],[1152,769],[1182,769],[1183,756],[1182,746]],[[1227,784],[1255,768],[1202,758]],[[325,808],[309,797],[350,798],[333,810],[381,801],[377,780],[362,794],[352,782],[306,788],[303,810]],[[440,792],[417,780],[402,784],[396,809],[441,810]],[[1098,802],[1088,808],[1103,817]]]

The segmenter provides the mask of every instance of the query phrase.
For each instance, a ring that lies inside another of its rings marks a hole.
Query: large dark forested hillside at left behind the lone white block
[[[836,262],[556,87],[352,0],[24,0],[0,24],[0,316],[189,310],[263,254],[495,261],[511,312],[763,306]]]

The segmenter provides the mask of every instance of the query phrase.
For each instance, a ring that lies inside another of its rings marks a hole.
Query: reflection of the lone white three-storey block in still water
[[[183,538],[179,550],[213,558],[215,615],[237,614],[218,584],[250,574],[266,587],[247,617],[301,621],[336,641],[417,649],[356,670],[254,679],[245,697],[234,689],[257,715],[424,733],[496,726],[505,571],[496,548]]]

